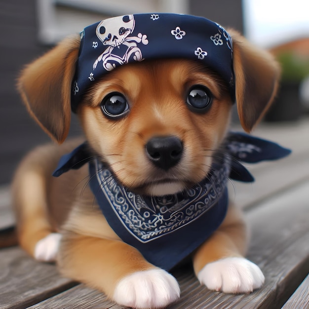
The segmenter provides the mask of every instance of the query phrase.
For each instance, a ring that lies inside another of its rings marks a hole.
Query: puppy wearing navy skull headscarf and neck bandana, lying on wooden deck
[[[208,289],[260,288],[242,216],[227,202],[227,136],[234,100],[249,132],[278,78],[268,53],[188,15],[126,15],[63,40],[25,68],[18,88],[54,141],[66,139],[72,109],[86,143],[39,147],[21,163],[20,245],[133,308],[175,302],[167,270],[187,257]]]

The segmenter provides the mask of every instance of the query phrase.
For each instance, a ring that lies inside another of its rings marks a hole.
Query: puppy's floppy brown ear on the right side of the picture
[[[277,92],[280,67],[267,51],[251,45],[237,32],[233,40],[233,69],[237,111],[241,126],[252,130],[272,103]]]

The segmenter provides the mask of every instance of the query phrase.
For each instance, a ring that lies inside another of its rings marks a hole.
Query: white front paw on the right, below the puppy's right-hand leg
[[[250,293],[260,288],[265,277],[260,268],[245,258],[225,258],[204,266],[197,275],[208,289],[225,293]]]

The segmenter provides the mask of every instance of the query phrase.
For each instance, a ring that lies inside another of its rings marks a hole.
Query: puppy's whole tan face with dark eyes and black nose
[[[232,102],[211,71],[190,60],[118,68],[89,89],[77,114],[91,147],[135,192],[179,192],[209,172]]]

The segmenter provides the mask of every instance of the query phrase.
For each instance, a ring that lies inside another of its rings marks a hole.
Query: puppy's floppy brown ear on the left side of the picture
[[[31,116],[49,136],[62,143],[70,129],[71,85],[80,39],[64,39],[28,65],[18,80],[18,90]]]

